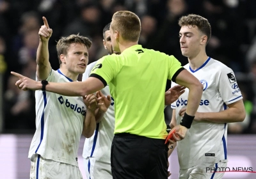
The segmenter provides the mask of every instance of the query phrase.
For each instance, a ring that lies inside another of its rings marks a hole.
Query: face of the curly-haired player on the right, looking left
[[[180,28],[180,49],[183,56],[196,57],[202,47],[202,33],[197,26],[182,26]]]

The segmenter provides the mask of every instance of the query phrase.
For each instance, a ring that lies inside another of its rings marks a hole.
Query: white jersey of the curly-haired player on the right
[[[215,59],[208,58],[197,70],[185,65],[191,74],[204,84],[204,91],[198,112],[220,112],[227,109],[228,104],[241,100],[240,89],[232,69]],[[173,82],[172,86],[176,84]],[[176,109],[177,124],[182,118],[180,109],[188,105],[188,88],[179,99],[172,104]],[[185,139],[177,142],[180,169],[203,163],[217,163],[227,160],[227,123],[203,123],[193,121]]]

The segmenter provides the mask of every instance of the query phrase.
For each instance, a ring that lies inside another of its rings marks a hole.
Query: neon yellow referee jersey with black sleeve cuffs
[[[133,45],[120,55],[99,59],[90,77],[97,77],[115,100],[115,134],[130,133],[155,139],[167,136],[164,91],[182,68],[174,56]]]

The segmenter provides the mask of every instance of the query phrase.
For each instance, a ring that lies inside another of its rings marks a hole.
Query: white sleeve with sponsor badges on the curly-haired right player
[[[238,87],[234,72],[226,67],[220,70],[219,91],[225,104],[232,104],[242,99],[241,91]]]

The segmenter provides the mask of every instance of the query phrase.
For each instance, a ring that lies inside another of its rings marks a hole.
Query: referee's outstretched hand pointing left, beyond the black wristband
[[[42,89],[42,84],[40,81],[29,79],[28,77],[25,77],[24,75],[20,75],[16,72],[11,72],[11,74],[15,75],[16,77],[19,77],[19,80],[15,83],[15,85],[19,89],[22,89],[23,91],[26,91],[28,89],[31,89],[31,90]]]

